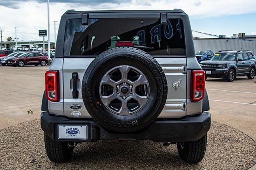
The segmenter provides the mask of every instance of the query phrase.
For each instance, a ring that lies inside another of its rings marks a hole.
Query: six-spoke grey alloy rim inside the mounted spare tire
[[[131,115],[148,102],[150,86],[141,70],[120,65],[110,69],[100,82],[100,98],[112,113]]]

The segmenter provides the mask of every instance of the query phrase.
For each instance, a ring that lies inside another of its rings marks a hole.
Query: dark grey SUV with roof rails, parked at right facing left
[[[236,76],[254,79],[256,60],[251,51],[219,51],[210,61],[200,62],[207,77],[224,78],[232,82]]]

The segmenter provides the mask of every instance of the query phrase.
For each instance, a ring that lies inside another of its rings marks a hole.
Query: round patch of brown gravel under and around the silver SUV
[[[82,143],[72,160],[50,162],[44,150],[40,121],[28,121],[0,131],[0,169],[248,169],[256,163],[256,143],[244,133],[212,122],[207,150],[198,164],[180,160],[176,145],[152,141]]]

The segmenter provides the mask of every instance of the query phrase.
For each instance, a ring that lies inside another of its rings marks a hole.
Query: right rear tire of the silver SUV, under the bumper
[[[180,158],[187,163],[195,164],[204,158],[206,151],[207,134],[197,141],[177,143]]]

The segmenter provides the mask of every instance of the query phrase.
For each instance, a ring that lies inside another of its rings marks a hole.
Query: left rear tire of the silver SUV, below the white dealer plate
[[[67,162],[70,160],[73,147],[69,147],[67,142],[53,141],[48,135],[44,134],[44,145],[47,157],[52,162]]]

